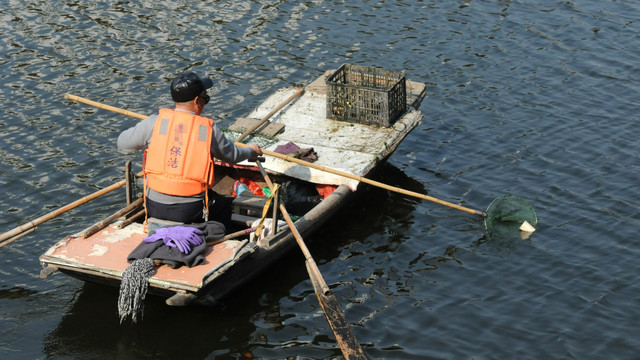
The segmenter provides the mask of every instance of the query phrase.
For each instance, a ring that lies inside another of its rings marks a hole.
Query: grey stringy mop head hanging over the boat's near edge
[[[129,316],[134,323],[138,321],[138,316],[142,319],[149,278],[154,273],[153,260],[149,258],[134,260],[122,273],[118,297],[118,314],[121,324]]]

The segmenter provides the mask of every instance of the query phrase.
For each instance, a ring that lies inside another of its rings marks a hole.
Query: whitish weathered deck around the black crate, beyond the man
[[[270,119],[273,124],[284,125],[284,131],[272,139],[255,139],[263,148],[274,151],[278,145],[293,142],[300,148],[313,148],[318,153],[316,165],[357,176],[365,176],[375,165],[387,158],[402,139],[422,120],[417,110],[425,97],[423,83],[407,81],[407,112],[392,126],[378,127],[327,119],[325,79],[334,71],[329,70],[305,87],[301,97],[276,112]],[[269,114],[297,89],[276,91],[249,116],[261,119]],[[233,135],[229,136],[234,138]],[[246,164],[248,165],[248,163]],[[267,157],[264,167],[271,173],[285,174],[316,184],[346,184],[355,190],[358,181],[320,170],[293,164],[278,158]]]

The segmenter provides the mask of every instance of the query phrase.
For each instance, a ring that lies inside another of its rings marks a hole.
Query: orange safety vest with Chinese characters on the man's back
[[[167,195],[193,196],[213,186],[213,120],[160,109],[143,168],[145,185]]]

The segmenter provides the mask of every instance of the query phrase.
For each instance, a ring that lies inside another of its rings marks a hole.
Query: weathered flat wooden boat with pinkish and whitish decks
[[[392,126],[378,127],[326,118],[325,79],[331,73],[327,71],[307,85],[301,96],[284,107],[279,108],[278,105],[299,89],[280,89],[267,98],[247,118],[251,122],[251,119],[268,115],[268,125],[279,132],[266,137],[255,136],[249,142],[269,150],[289,142],[300,148],[313,148],[318,155],[315,164],[365,177],[377,164],[385,161],[421,121],[422,113],[418,109],[425,96],[425,85],[407,81],[407,111]],[[241,120],[236,122],[236,128],[246,126],[241,124],[247,120]],[[229,129],[229,138],[238,134],[233,128]],[[299,215],[295,226],[302,236],[325,226],[331,215],[354,199],[358,187],[357,180],[279,158],[266,157],[263,164],[275,183],[291,180],[314,186],[328,185],[335,189],[304,213],[289,211]],[[214,190],[221,194],[230,195],[233,182],[241,177],[252,179],[261,187],[265,185],[255,163],[251,162],[233,166],[217,163],[215,175]],[[139,216],[141,200],[131,201],[132,204],[118,214],[78,234],[67,236],[48,249],[40,257],[43,266],[41,277],[59,271],[85,281],[119,286],[123,272],[130,265],[128,255],[147,236],[142,222],[144,216]],[[261,201],[255,196],[239,196],[234,200],[233,220],[238,229],[249,227],[249,223],[261,217],[264,202],[265,199]],[[166,265],[156,266],[155,274],[149,279],[148,291],[165,297],[169,305],[213,304],[297,248],[288,227],[274,230],[262,239],[250,239],[247,235],[208,246],[204,252],[205,261],[197,266],[175,269]]]

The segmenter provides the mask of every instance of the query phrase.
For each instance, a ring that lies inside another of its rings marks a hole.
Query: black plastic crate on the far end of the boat
[[[325,82],[330,119],[389,127],[407,111],[404,72],[343,64]]]

